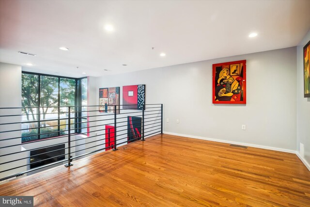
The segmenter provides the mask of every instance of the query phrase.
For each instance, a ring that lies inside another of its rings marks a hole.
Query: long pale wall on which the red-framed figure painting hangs
[[[212,104],[212,64],[244,59],[247,104]],[[146,103],[164,104],[166,132],[296,149],[295,47],[104,76],[96,82],[97,91],[120,86],[121,104],[122,86],[145,84]],[[241,130],[242,124],[247,130]]]

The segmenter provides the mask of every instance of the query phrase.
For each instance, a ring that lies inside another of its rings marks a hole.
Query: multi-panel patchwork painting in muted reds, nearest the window
[[[120,113],[120,87],[100,88],[99,111],[114,113],[114,106],[116,113]]]

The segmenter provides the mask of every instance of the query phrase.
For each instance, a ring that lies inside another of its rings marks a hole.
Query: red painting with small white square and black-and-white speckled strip
[[[123,109],[142,110],[145,104],[145,85],[123,86]]]

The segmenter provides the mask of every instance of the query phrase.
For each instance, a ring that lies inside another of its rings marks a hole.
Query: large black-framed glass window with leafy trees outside
[[[79,81],[82,87],[78,91]],[[22,142],[67,134],[69,107],[71,133],[81,132],[76,123],[86,122],[87,119],[77,118],[78,102],[87,105],[87,78],[73,79],[23,72]],[[83,112],[83,116],[87,116],[86,112]],[[85,131],[86,128],[82,132]]]

